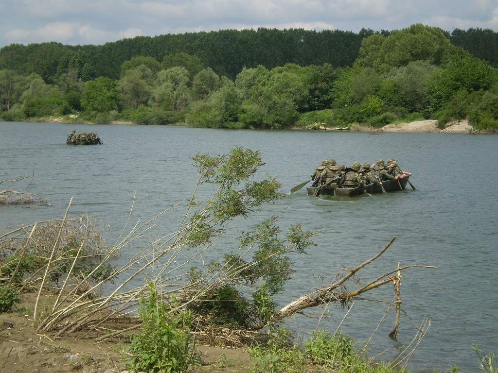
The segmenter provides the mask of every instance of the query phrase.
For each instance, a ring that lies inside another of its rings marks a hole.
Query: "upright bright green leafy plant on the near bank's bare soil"
[[[194,340],[190,336],[193,318],[190,312],[172,311],[157,298],[153,283],[150,296],[142,298],[142,333],[132,335],[125,351],[133,356],[125,363],[135,371],[147,373],[186,372],[194,363]],[[173,305],[174,306],[174,305]]]

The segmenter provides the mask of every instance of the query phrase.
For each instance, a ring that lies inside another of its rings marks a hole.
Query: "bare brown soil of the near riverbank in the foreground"
[[[22,294],[24,303],[18,303],[17,306],[32,309],[36,295]],[[42,297],[40,306],[48,306],[49,298]],[[96,343],[95,337],[85,337],[78,332],[70,337],[57,338],[53,333],[36,334],[32,316],[0,313],[0,372],[126,372],[122,355],[124,340],[116,337],[112,341]],[[249,354],[240,349],[205,345],[198,345],[197,348],[203,363],[191,372],[250,371]]]

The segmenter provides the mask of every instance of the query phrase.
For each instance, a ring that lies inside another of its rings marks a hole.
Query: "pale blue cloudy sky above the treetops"
[[[498,0],[0,0],[0,47],[257,27],[358,32],[417,22],[498,31]]]

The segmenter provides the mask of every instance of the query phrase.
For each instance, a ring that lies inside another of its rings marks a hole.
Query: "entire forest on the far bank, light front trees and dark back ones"
[[[223,30],[0,49],[0,118],[282,128],[467,118],[498,128],[498,33]]]

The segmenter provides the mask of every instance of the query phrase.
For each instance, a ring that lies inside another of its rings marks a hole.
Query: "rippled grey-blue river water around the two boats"
[[[104,144],[68,146],[65,140],[72,129],[93,130]],[[401,282],[403,309],[417,324],[424,317],[431,320],[410,360],[411,368],[433,372],[456,364],[464,371],[477,372],[473,343],[498,353],[495,135],[0,122],[0,180],[34,171],[43,182],[37,187],[57,189],[56,193],[44,191],[52,194],[52,207],[0,206],[0,227],[60,218],[74,197],[70,216],[88,213],[108,221],[113,230],[106,238],[114,242],[137,183],[133,222],[151,218],[190,197],[196,171],[189,156],[222,154],[234,145],[260,150],[266,163],[262,173],[278,178],[285,192],[308,180],[325,158],[348,166],[355,160],[363,164],[393,157],[403,170],[413,173],[410,180],[416,190],[408,187],[387,195],[341,199],[311,197],[303,188],[264,206],[256,217],[236,220],[232,227],[236,232],[249,230],[272,215],[279,217],[282,228],[302,223],[306,230],[320,231],[314,238],[318,246],[308,255],[293,257],[297,272],[277,299],[280,304],[332,280],[340,268],[352,268],[372,257],[395,235],[391,248],[359,277],[364,283],[395,268],[398,261],[401,265],[437,266],[437,270],[408,270]],[[156,230],[174,231],[179,216],[161,217]],[[391,300],[392,296],[392,286],[386,285],[365,297]],[[385,308],[380,302],[356,301],[342,324],[344,332],[367,340]],[[307,313],[312,315],[313,310]],[[345,313],[340,306],[331,305],[320,326],[335,329]],[[416,329],[402,316],[397,341],[389,339],[393,319],[391,312],[374,335],[369,345],[371,356],[387,349],[381,357],[390,360],[413,338]],[[303,332],[315,328],[317,322],[297,315],[287,325]]]

